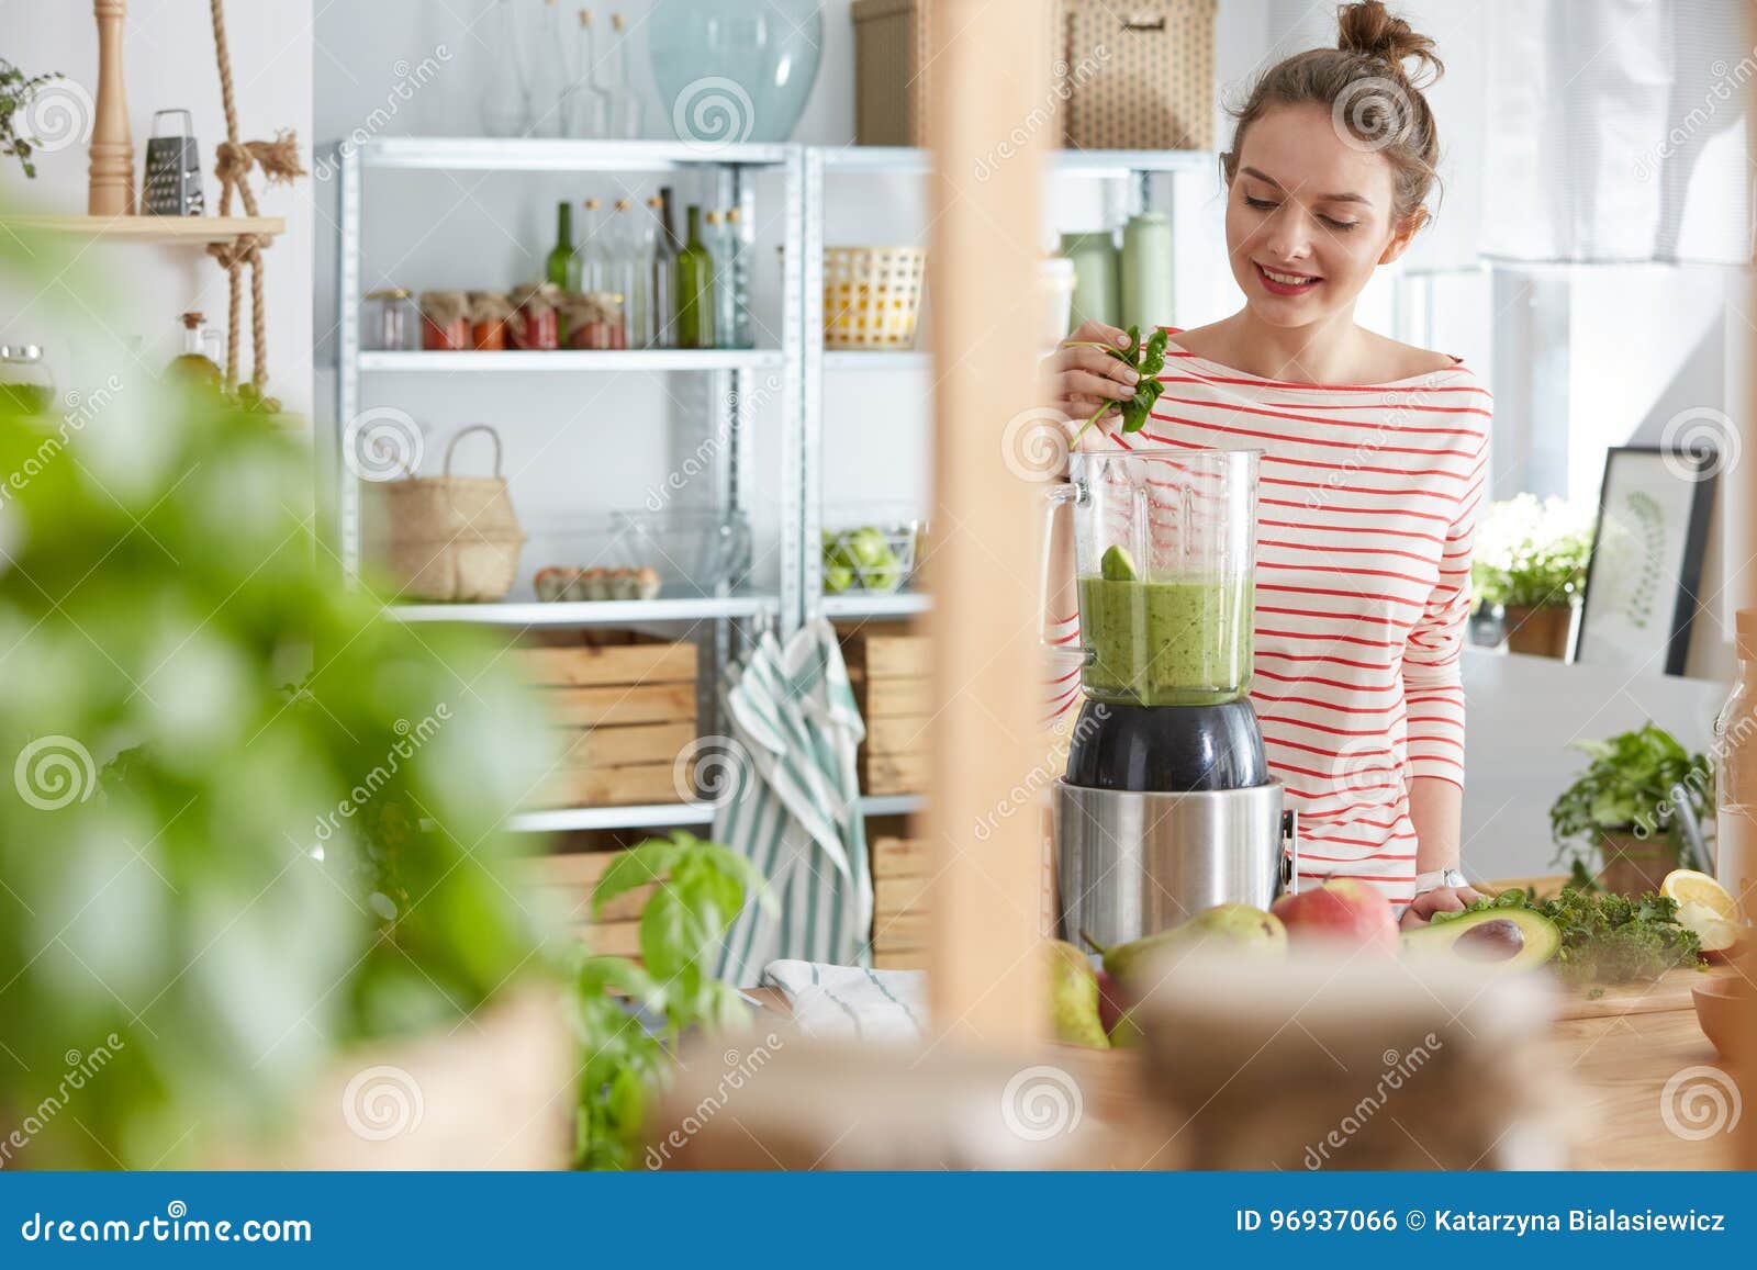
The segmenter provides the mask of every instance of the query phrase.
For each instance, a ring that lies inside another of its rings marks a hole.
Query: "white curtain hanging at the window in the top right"
[[[1739,0],[1490,5],[1483,249],[1516,260],[1752,255]]]

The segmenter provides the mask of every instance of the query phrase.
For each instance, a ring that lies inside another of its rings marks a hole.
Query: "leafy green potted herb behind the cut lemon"
[[[1653,722],[1606,741],[1574,741],[1592,759],[1580,780],[1550,808],[1550,833],[1560,854],[1590,852],[1602,833],[1666,829],[1673,787],[1690,792],[1697,820],[1713,815],[1715,776],[1706,755],[1690,754]]]

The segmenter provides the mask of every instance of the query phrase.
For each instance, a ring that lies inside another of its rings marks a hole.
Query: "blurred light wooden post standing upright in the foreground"
[[[1009,471],[1001,437],[1031,406],[1044,327],[1035,279],[1042,151],[1056,142],[1045,121],[1049,0],[936,0],[928,12],[938,376],[928,966],[942,1035],[1019,1050],[1047,1021],[1037,794],[1021,803],[1014,792],[1042,762],[1033,543],[1044,487]]]

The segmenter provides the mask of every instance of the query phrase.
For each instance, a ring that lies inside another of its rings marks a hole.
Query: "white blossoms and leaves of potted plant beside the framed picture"
[[[1485,604],[1565,608],[1587,585],[1592,522],[1562,499],[1522,494],[1488,509],[1471,580]]]

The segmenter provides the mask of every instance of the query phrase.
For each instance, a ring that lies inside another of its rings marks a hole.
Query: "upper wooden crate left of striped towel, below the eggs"
[[[696,740],[694,643],[624,632],[560,631],[511,650],[560,727],[557,766],[534,806],[683,803]]]

